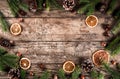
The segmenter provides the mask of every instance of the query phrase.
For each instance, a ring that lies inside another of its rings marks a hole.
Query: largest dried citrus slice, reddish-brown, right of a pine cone
[[[92,55],[93,63],[96,66],[101,66],[103,64],[103,62],[108,63],[109,58],[110,58],[110,55],[105,50],[98,50]]]

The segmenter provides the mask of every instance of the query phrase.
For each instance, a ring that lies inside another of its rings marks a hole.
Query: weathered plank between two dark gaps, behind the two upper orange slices
[[[84,19],[80,18],[24,18],[20,23],[23,31],[19,36],[4,33],[0,29],[0,35],[12,40],[22,41],[105,41],[102,23],[95,28],[88,27]],[[10,24],[18,22],[16,18],[9,18]]]

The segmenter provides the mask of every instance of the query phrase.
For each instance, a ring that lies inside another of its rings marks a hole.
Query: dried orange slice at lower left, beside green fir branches
[[[24,70],[29,69],[31,66],[31,62],[28,58],[21,58],[20,60],[20,67]]]

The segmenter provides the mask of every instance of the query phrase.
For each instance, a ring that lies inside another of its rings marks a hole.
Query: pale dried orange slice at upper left
[[[22,28],[21,28],[20,24],[13,23],[10,27],[10,32],[13,35],[19,35],[22,32]]]

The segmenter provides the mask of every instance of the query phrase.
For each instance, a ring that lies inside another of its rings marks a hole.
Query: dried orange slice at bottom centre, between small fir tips
[[[75,64],[72,61],[66,61],[63,64],[63,70],[66,73],[72,73],[74,71],[74,69],[75,69]]]

